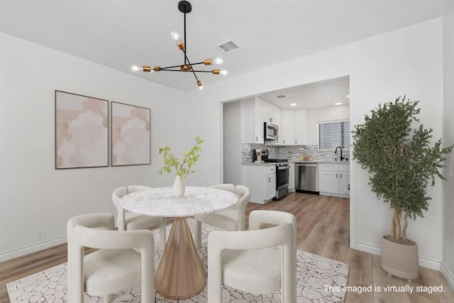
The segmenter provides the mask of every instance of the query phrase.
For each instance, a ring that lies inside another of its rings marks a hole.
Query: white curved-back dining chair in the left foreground
[[[155,299],[152,231],[115,231],[112,214],[85,214],[67,223],[68,301],[84,302],[84,292],[111,302],[115,292],[142,283],[142,302]],[[97,248],[84,255],[84,248]],[[135,249],[138,249],[136,251]]]

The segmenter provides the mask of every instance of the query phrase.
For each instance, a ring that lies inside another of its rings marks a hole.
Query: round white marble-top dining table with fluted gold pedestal
[[[172,229],[155,275],[155,290],[167,299],[188,299],[204,290],[206,275],[187,217],[212,214],[235,205],[233,192],[212,187],[186,187],[177,198],[172,187],[150,188],[127,194],[123,209],[148,216],[173,217]]]

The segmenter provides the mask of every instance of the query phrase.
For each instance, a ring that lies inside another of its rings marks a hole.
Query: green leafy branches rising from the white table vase
[[[175,170],[175,175],[179,177],[186,177],[186,175],[194,172],[192,167],[195,165],[197,160],[199,160],[200,155],[198,153],[201,151],[200,145],[201,143],[204,143],[204,140],[199,138],[199,136],[196,136],[194,140],[196,142],[194,147],[183,154],[182,162],[179,162],[179,158],[172,154],[172,150],[170,150],[169,146],[160,148],[159,153],[164,153],[164,166],[157,172],[162,175],[164,172],[170,173],[172,170]]]

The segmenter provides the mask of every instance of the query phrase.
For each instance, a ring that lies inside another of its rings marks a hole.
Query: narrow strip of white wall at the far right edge
[[[443,145],[454,144],[454,5],[443,18],[443,67],[444,67],[444,116]],[[441,272],[454,288],[454,153],[445,162],[443,191],[443,238],[444,255]]]

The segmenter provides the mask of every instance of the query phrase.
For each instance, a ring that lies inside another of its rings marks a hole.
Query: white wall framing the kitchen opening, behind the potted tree
[[[441,138],[443,117],[443,44],[442,19],[420,23],[384,35],[378,35],[321,53],[301,57],[262,70],[250,72],[206,86],[204,94],[187,92],[187,111],[192,106],[211,110],[207,131],[204,121],[192,125],[195,133],[203,133],[208,141],[217,141],[221,131],[220,101],[243,99],[285,87],[350,76],[350,123],[362,123],[365,114],[380,103],[393,101],[406,94],[421,100],[421,122],[433,128],[434,138]],[[225,58],[228,65],[228,57]],[[196,112],[193,112],[196,114]],[[205,159],[206,175],[200,182],[213,182],[221,165],[220,145],[211,146],[211,159]],[[392,212],[377,202],[367,185],[367,172],[354,161],[350,167],[350,246],[380,253],[380,238],[389,233]],[[409,238],[419,243],[420,264],[439,268],[442,259],[441,182],[429,189],[433,198],[425,218],[409,222]]]

